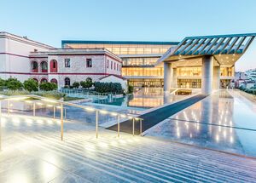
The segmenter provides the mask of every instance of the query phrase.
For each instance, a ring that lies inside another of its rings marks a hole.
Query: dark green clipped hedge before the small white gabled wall
[[[123,94],[124,90],[120,83],[95,83],[95,91],[99,93]]]

